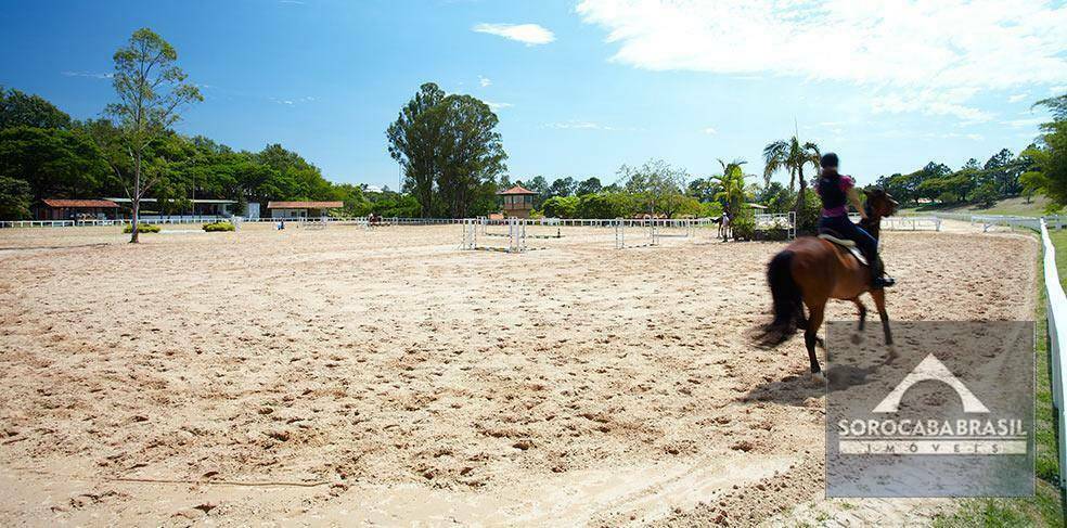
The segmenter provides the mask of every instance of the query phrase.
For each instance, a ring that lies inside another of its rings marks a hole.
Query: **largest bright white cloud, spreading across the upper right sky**
[[[988,120],[968,105],[976,94],[1067,80],[1067,5],[1051,0],[582,0],[576,11],[608,31],[618,63],[851,82],[880,112]],[[966,31],[946,30],[960,21]]]

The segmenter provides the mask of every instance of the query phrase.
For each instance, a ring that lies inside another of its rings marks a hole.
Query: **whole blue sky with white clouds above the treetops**
[[[333,181],[396,188],[385,129],[434,81],[491,103],[513,180],[648,158],[762,173],[796,126],[866,183],[1038,134],[1030,105],[1067,91],[1067,8],[1005,3],[3,1],[0,85],[99,115],[112,54],[147,26],[203,86],[182,132],[281,143]]]

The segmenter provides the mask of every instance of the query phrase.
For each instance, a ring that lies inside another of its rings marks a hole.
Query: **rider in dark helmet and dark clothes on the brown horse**
[[[860,193],[856,190],[856,180],[837,172],[837,154],[833,152],[823,154],[819,165],[822,170],[819,172],[815,192],[819,193],[823,206],[819,218],[819,234],[828,233],[856,242],[871,269],[871,287],[880,289],[892,286],[896,281],[890,276],[883,276],[885,267],[878,257],[878,240],[848,219],[848,204],[860,211],[860,217],[867,219]]]

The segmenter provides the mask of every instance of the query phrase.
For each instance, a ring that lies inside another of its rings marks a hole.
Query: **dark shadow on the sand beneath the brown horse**
[[[826,381],[810,374],[790,375],[777,382],[761,383],[753,387],[742,399],[744,401],[771,401],[783,405],[812,407],[812,399],[825,396],[833,390],[846,390],[870,383],[867,377],[884,364],[859,368],[854,365],[834,365],[824,371]]]

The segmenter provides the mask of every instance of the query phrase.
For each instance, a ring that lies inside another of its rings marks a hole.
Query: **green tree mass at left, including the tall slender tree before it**
[[[333,183],[281,144],[237,151],[177,133],[179,111],[200,94],[176,61],[169,43],[139,29],[114,56],[117,101],[85,120],[0,87],[0,219],[29,218],[44,198],[101,196],[156,198],[145,213],[163,215],[190,213],[194,198],[235,201],[237,214],[248,202],[339,201],[346,215],[420,215],[410,196]]]

